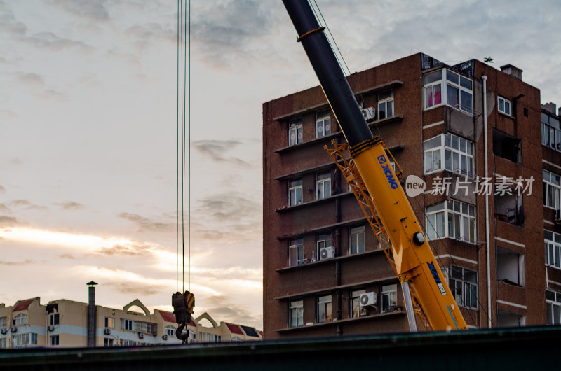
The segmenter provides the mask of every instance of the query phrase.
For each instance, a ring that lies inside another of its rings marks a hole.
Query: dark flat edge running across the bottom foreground
[[[0,351],[0,370],[559,370],[561,327]]]

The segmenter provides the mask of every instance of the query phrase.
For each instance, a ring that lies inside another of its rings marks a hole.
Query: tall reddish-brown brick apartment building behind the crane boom
[[[421,53],[348,80],[402,186],[426,182],[410,202],[469,327],[561,323],[555,104],[542,109],[510,64]],[[409,330],[398,279],[323,149],[332,140],[345,142],[321,87],[263,104],[266,339]]]

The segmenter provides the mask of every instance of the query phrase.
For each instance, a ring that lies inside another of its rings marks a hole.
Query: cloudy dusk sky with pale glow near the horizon
[[[561,104],[558,1],[316,1],[353,72],[492,57]],[[0,0],[0,303],[96,281],[97,304],[171,310],[176,22],[177,1]],[[262,103],[317,85],[295,41],[280,0],[191,1],[195,316],[262,329]]]

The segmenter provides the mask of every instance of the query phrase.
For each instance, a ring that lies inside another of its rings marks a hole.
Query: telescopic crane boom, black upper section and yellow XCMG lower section
[[[384,233],[391,241],[391,263],[404,288],[406,303],[411,303],[412,288],[413,302],[424,314],[429,328],[466,329],[466,321],[390,165],[384,141],[370,131],[323,27],[318,24],[307,0],[283,0],[283,3],[346,137],[351,158],[377,210]],[[410,316],[412,305],[406,307]],[[410,327],[416,328],[411,316]]]

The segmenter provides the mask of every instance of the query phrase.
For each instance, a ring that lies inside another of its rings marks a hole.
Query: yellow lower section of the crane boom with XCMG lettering
[[[410,283],[414,290],[414,301],[422,307],[434,330],[466,329],[466,321],[442,276],[431,247],[426,239],[420,246],[413,241],[415,233],[422,233],[421,225],[393,172],[384,144],[377,141],[376,144],[363,147],[365,149],[353,155],[353,160],[391,240],[393,265],[398,279]]]

